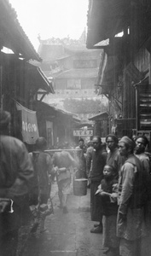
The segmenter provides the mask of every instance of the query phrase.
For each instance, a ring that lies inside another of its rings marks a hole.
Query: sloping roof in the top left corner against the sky
[[[0,0],[0,41],[26,60],[41,61],[26,33],[20,26],[15,9],[9,0]]]

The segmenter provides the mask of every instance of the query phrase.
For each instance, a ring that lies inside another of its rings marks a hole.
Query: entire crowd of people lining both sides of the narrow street
[[[24,143],[10,136],[10,113],[0,111],[0,252],[15,256],[18,234],[34,206],[40,232],[51,213],[48,201],[56,177],[60,207],[67,213],[67,195],[76,178],[87,178],[90,188],[91,233],[102,233],[104,253],[112,256],[141,255],[142,239],[150,224],[151,178],[148,139],[118,139],[109,134],[106,143],[93,137],[88,147],[80,138],[70,154],[56,150],[50,155],[44,137],[28,153]],[[67,145],[66,145],[67,147]],[[65,148],[66,148],[65,147]],[[64,148],[64,149],[65,149]],[[41,221],[39,222],[39,219]],[[106,248],[106,250],[105,250]]]

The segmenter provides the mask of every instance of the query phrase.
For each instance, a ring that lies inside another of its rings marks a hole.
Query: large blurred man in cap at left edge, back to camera
[[[33,168],[24,143],[9,136],[11,116],[0,110],[0,255],[15,256],[20,218]]]

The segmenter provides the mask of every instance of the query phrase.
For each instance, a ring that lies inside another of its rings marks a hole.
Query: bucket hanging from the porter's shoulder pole
[[[73,179],[73,195],[86,195],[87,194],[87,183],[86,178],[75,178]]]

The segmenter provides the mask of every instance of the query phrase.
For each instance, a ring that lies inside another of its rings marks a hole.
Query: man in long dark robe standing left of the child
[[[102,233],[102,199],[96,195],[96,190],[100,185],[103,177],[103,168],[106,165],[107,151],[102,147],[101,137],[93,137],[94,149],[91,158],[87,160],[87,173],[90,173],[90,215],[92,221],[99,224],[94,225],[90,230],[91,233]],[[90,172],[91,167],[91,172]]]

